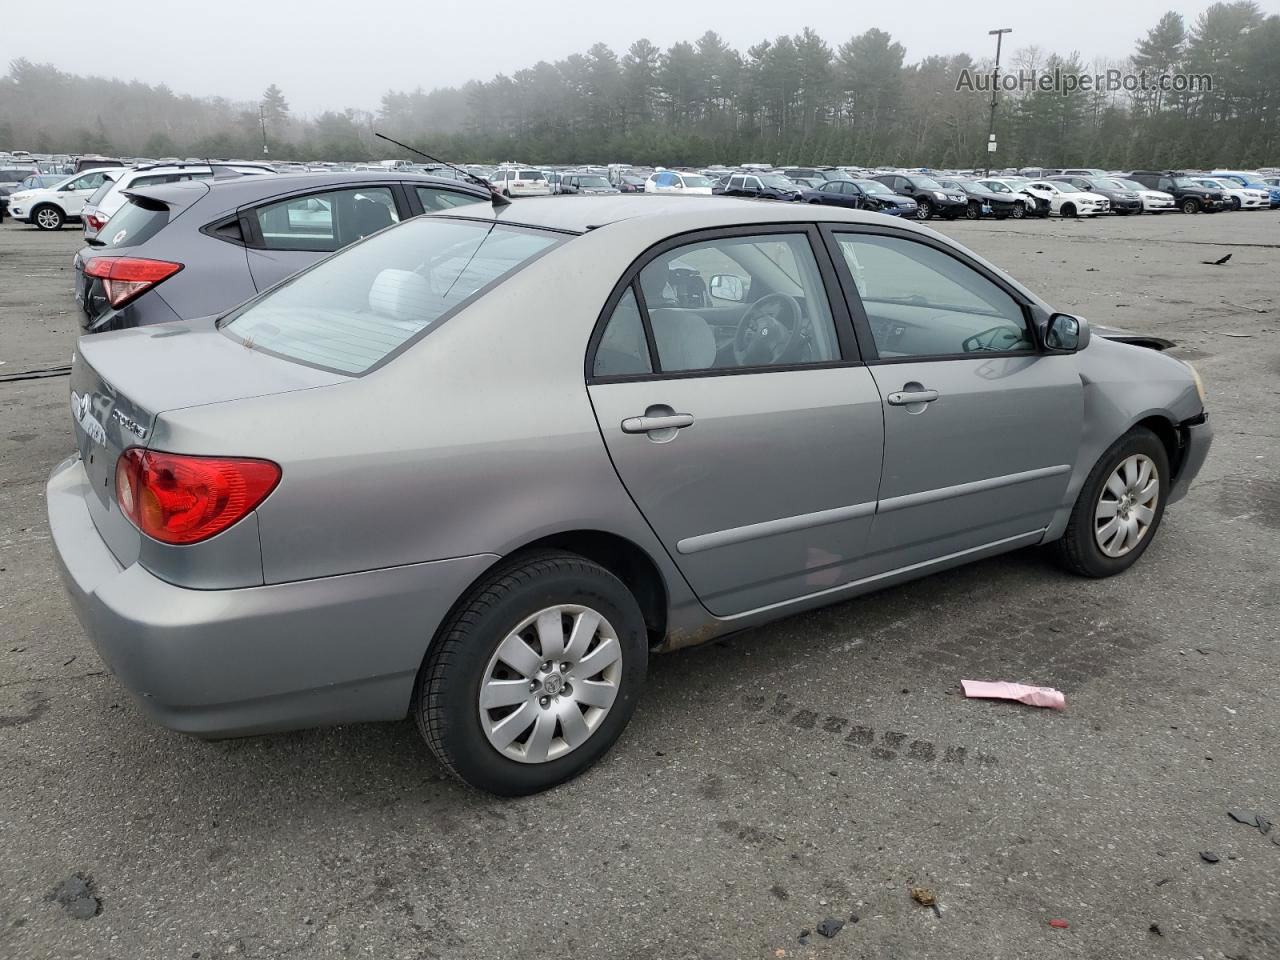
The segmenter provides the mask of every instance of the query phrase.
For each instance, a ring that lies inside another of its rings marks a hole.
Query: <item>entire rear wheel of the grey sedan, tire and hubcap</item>
[[[419,676],[413,716],[460,780],[535,794],[613,746],[648,653],[640,607],[604,567],[570,553],[517,556],[449,617]]]

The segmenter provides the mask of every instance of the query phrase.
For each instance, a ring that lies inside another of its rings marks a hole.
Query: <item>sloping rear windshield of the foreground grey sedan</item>
[[[298,274],[220,326],[253,349],[364,374],[563,239],[474,220],[410,220]]]

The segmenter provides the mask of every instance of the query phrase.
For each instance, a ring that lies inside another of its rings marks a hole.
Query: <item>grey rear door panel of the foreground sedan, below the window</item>
[[[622,483],[712,613],[864,575],[884,439],[867,367],[596,383],[589,392]],[[623,429],[680,413],[692,422]]]

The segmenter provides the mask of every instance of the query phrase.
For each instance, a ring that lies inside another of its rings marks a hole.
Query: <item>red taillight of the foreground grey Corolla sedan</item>
[[[269,460],[188,457],[131,447],[115,465],[115,502],[161,543],[207,540],[243,520],[280,483]]]

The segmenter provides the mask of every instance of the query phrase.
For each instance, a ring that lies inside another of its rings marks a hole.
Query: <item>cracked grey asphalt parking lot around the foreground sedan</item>
[[[0,956],[1280,956],[1280,826],[1228,817],[1280,822],[1280,215],[942,229],[1199,367],[1215,448],[1151,550],[1106,581],[1025,550],[658,658],[613,753],[522,800],[410,722],[145,719],[50,556],[67,380],[0,383]],[[68,361],[77,246],[0,227],[0,378]]]

